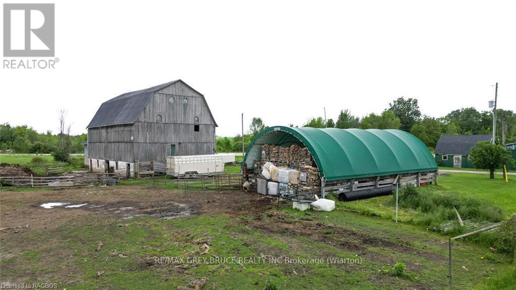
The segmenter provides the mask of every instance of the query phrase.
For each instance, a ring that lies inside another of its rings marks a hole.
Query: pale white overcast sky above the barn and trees
[[[86,133],[102,102],[178,78],[218,136],[240,132],[241,112],[246,130],[252,117],[302,125],[399,96],[433,117],[487,110],[496,82],[498,107],[516,111],[516,1],[54,3],[60,62],[0,69],[0,123],[56,133],[64,108]]]

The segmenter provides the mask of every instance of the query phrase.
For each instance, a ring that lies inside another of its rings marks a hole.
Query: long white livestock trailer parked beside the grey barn
[[[218,154],[167,157],[168,175],[211,174],[220,172],[224,172],[224,161]]]

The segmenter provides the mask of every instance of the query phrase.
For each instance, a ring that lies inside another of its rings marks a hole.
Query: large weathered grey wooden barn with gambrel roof
[[[215,127],[204,95],[181,79],[121,94],[104,102],[87,126],[90,170],[214,154]]]

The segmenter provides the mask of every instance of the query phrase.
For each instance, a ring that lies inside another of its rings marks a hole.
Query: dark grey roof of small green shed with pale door
[[[491,142],[491,135],[442,135],[437,142],[436,154],[470,155],[477,142]]]

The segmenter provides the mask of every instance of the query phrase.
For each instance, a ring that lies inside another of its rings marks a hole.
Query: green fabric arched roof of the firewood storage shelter
[[[250,144],[248,168],[261,158],[261,144],[308,147],[328,181],[437,170],[425,144],[401,130],[269,127]]]

